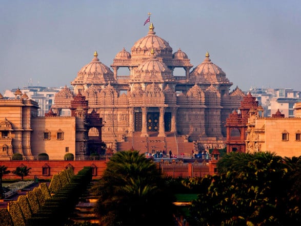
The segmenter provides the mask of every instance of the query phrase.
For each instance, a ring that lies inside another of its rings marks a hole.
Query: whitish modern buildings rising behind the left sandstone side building
[[[38,103],[39,109],[38,109],[38,116],[44,116],[45,113],[47,113],[51,105],[54,104],[54,96],[55,93],[60,91],[64,87],[43,87],[43,86],[28,86],[21,88],[21,92],[29,97],[29,99],[35,101]],[[15,98],[15,91],[18,88],[14,88],[11,90],[5,90],[4,91],[4,98]],[[70,111],[68,112],[62,112],[64,116],[70,116]]]

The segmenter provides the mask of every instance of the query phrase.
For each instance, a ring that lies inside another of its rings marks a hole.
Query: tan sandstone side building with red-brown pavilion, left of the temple
[[[37,160],[47,154],[49,160],[64,160],[71,153],[84,160],[102,150],[102,118],[95,111],[88,114],[88,102],[82,95],[70,102],[70,116],[57,116],[49,110],[38,116],[38,103],[20,89],[15,98],[0,94],[0,160],[11,160],[16,153],[24,160]]]

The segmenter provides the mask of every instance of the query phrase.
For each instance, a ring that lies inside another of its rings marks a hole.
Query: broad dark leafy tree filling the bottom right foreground
[[[268,152],[224,156],[218,175],[186,182],[202,187],[192,216],[199,225],[300,225],[300,190],[292,183],[298,174],[291,171],[298,161],[289,160],[291,166]]]

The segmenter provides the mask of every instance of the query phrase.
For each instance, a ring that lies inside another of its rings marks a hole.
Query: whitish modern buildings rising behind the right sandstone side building
[[[285,117],[294,117],[294,105],[301,101],[301,91],[293,89],[250,88],[248,91],[256,97],[264,108],[264,116],[271,117],[279,109]]]

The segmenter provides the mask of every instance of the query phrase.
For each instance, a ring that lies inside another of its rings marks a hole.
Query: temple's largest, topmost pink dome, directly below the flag
[[[148,34],[139,39],[131,48],[132,58],[141,58],[149,50],[154,49],[158,52],[158,56],[169,56],[172,58],[172,48],[167,41],[156,35],[153,23],[149,26]]]

